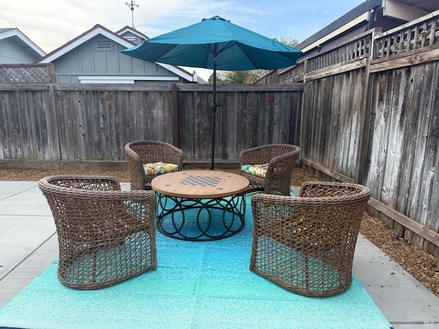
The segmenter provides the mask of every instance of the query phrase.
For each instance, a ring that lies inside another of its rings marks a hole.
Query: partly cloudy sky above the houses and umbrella
[[[270,38],[305,40],[365,0],[139,0],[134,27],[152,38],[218,15]],[[100,24],[132,26],[125,0],[1,0],[0,27],[16,27],[46,53]],[[128,1],[130,3],[131,1]]]

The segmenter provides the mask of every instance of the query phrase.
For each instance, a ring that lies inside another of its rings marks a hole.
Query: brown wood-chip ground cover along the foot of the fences
[[[0,180],[37,181],[48,175],[70,173],[78,175],[110,175],[120,182],[129,182],[128,171],[56,171],[56,170],[0,170]],[[303,169],[296,169],[292,178],[293,186],[303,182],[318,180]],[[439,258],[423,252],[420,248],[403,241],[393,230],[387,228],[376,217],[364,214],[361,221],[361,234],[388,254],[396,263],[421,282],[429,291],[439,297]]]

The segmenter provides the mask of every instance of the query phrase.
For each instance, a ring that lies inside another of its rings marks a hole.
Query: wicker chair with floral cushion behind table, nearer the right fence
[[[247,192],[263,191],[266,194],[289,195],[291,176],[300,154],[300,148],[290,144],[270,144],[244,149],[239,164],[267,164],[265,178],[241,171],[250,184]]]

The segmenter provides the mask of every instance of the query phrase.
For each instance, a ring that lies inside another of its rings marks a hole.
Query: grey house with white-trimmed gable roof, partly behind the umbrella
[[[53,63],[57,82],[62,84],[206,83],[178,66],[121,53],[145,39],[130,27],[114,33],[98,24],[36,63]]]

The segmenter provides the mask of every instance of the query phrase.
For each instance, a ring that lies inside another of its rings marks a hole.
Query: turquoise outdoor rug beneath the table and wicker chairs
[[[250,197],[235,236],[189,242],[157,233],[157,269],[113,287],[64,287],[54,262],[0,309],[0,328],[391,328],[356,278],[345,293],[318,298],[252,273]]]

